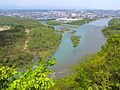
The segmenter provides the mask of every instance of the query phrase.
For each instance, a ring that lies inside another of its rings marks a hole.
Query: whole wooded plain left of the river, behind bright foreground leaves
[[[37,20],[0,18],[0,23],[10,27],[0,31],[0,63],[3,65],[23,67],[39,59],[48,59],[60,43],[61,34]]]

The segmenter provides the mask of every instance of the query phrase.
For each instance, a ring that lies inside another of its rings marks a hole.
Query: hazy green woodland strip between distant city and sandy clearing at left
[[[42,26],[38,20],[30,18],[20,18],[20,17],[10,17],[10,16],[0,16],[0,26],[17,26],[22,25],[25,28],[34,28]]]

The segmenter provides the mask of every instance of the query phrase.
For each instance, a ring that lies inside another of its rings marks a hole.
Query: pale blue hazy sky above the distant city
[[[120,9],[120,0],[0,0],[0,9]]]

